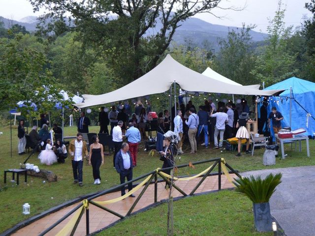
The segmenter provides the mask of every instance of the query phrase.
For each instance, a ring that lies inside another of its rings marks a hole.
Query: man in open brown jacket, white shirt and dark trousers
[[[83,186],[83,157],[87,157],[88,148],[87,143],[82,140],[82,133],[77,134],[77,138],[71,140],[69,144],[69,153],[71,155],[71,162],[72,162],[72,171],[73,171],[73,183],[78,183],[79,186]]]

